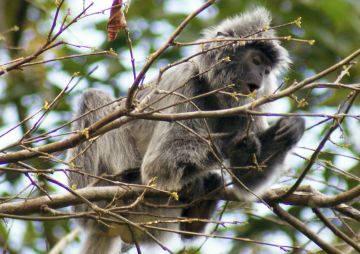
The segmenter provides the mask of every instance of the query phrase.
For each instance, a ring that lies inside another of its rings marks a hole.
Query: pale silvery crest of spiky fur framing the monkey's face
[[[234,16],[224,20],[217,26],[209,28],[204,31],[202,40],[211,39],[232,39],[232,38],[274,38],[276,32],[273,29],[268,29],[271,24],[271,14],[264,7],[257,7],[252,11]],[[223,44],[229,44],[229,41],[207,43],[201,47],[202,50],[208,50],[218,47]],[[225,49],[210,50],[204,57],[215,58],[219,60],[219,52],[233,51],[238,47],[256,46],[264,50],[273,62],[272,74],[278,76],[281,72],[288,68],[291,60],[285,48],[280,45],[278,40],[263,40],[263,41],[239,41],[232,43]]]

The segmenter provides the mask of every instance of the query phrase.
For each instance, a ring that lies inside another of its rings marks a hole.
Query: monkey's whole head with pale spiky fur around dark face
[[[233,84],[232,91],[247,95],[257,90],[259,96],[274,90],[276,78],[291,61],[280,42],[271,40],[276,34],[268,29],[270,22],[270,13],[258,7],[205,31],[203,39],[214,41],[201,46],[204,54],[197,61],[200,73],[212,89]],[[226,41],[234,38],[265,40]],[[246,102],[248,99],[240,104]]]

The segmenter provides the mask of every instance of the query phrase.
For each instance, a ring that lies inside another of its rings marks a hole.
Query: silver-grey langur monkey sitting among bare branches
[[[206,30],[202,39],[272,38],[275,32],[266,29],[270,22],[269,12],[258,7]],[[288,52],[276,40],[246,43],[213,40],[202,45],[199,51],[204,53],[165,72],[157,88],[175,92],[166,96],[152,94],[148,102],[151,109],[164,108],[162,112],[180,113],[241,106],[251,102],[254,96],[260,98],[274,92],[276,78],[290,63]],[[151,89],[151,86],[143,87],[136,99],[141,101]],[[216,89],[219,92],[211,92]],[[235,99],[229,95],[234,93],[245,96]],[[114,98],[101,91],[89,90],[78,103],[78,116],[112,101]],[[92,111],[77,120],[73,129],[81,131],[114,109],[115,106],[110,105]],[[177,191],[185,203],[223,187],[220,168],[221,163],[227,161],[235,193],[242,199],[254,200],[278,178],[288,151],[303,133],[304,120],[297,117],[283,117],[273,126],[268,125],[264,116],[246,115],[178,122],[138,119],[100,136],[91,145],[89,142],[78,145],[70,151],[69,160],[73,160],[80,171],[98,176],[116,175],[122,182],[147,184],[156,177],[157,188]],[[255,162],[261,170],[255,168]],[[81,174],[70,175],[70,185],[75,184],[77,188],[91,182],[92,178]],[[153,203],[166,204],[167,201],[153,200]],[[158,221],[156,216],[161,215],[209,219],[216,204],[217,201],[202,200],[183,209],[155,209],[141,204],[135,210],[140,216],[131,213],[122,216],[135,223]],[[78,205],[75,210],[88,208]],[[106,228],[90,220],[82,220],[81,225],[86,233],[82,252],[87,254],[119,253],[124,243],[152,241],[144,232],[129,225]],[[205,223],[160,223],[156,226],[190,232],[182,237],[191,238],[191,232],[202,232]],[[159,230],[148,231],[160,239],[167,235]]]

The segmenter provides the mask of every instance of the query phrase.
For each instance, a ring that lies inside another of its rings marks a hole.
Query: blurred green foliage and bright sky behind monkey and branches
[[[56,2],[53,0],[0,1],[1,65],[32,54],[43,45],[54,19]],[[163,45],[180,22],[203,2],[201,0],[131,1],[126,19],[133,43],[137,71],[145,64],[149,54]],[[68,20],[71,20],[91,3],[88,0],[65,1],[59,14],[60,22],[66,15],[69,15]],[[110,43],[107,41],[106,24],[109,11],[103,10],[110,8],[111,3],[111,0],[95,0],[93,6],[86,12],[88,16],[81,18],[60,36],[60,39],[77,46],[65,45],[53,48],[37,60],[110,49],[117,53],[117,56],[77,57],[29,66],[0,76],[0,149],[2,152],[20,149],[19,146],[12,146],[12,144],[16,144],[38,118],[34,117],[6,135],[3,134],[27,116],[41,109],[45,102],[52,101],[70,82],[74,73],[78,73],[77,79],[81,78],[77,86],[71,93],[66,94],[46,116],[33,134],[34,136],[48,132],[71,120],[72,111],[76,107],[76,98],[84,89],[99,88],[117,97],[126,94],[127,88],[133,81],[132,65],[123,33],[120,33],[115,41]],[[301,28],[294,25],[287,26],[278,30],[279,35],[291,35],[316,41],[312,46],[307,43],[284,42],[293,60],[291,70],[284,76],[285,85],[320,72],[360,46],[360,1],[358,0],[219,0],[195,18],[177,40],[194,41],[199,38],[204,28],[216,25],[226,17],[257,5],[265,6],[271,11],[274,25],[284,24],[298,17],[302,18]],[[160,67],[192,52],[194,52],[193,47],[168,49],[148,71],[146,80],[154,77]],[[334,72],[321,81],[333,82],[339,73],[340,71]],[[359,65],[355,65],[350,70],[350,75],[343,79],[343,83],[360,83]],[[348,94],[349,90],[345,89],[307,90],[296,94],[298,99],[305,99],[307,105],[299,107],[294,99],[282,99],[276,102],[274,112],[334,114]],[[359,99],[355,102],[350,114],[360,115]],[[312,127],[323,120],[324,118],[320,117],[307,117],[307,127]],[[291,171],[282,179],[281,185],[290,185],[294,177],[299,175],[304,166],[304,158],[309,158],[312,149],[316,149],[321,135],[328,128],[329,123],[324,123],[307,130],[305,138],[295,150],[295,155],[289,158]],[[358,178],[354,176],[360,176],[359,130],[359,118],[347,118],[342,124],[342,129],[332,135],[331,142],[328,142],[323,149],[304,184],[311,184],[325,194],[338,193],[358,185]],[[56,134],[67,131],[69,131],[68,127],[59,130]],[[64,137],[54,135],[50,139],[33,145],[38,146],[62,138]],[[60,159],[65,158],[65,153],[56,155]],[[66,168],[66,165],[62,163],[49,160],[32,159],[28,163],[36,168]],[[56,173],[55,177],[66,182],[66,177],[62,173]],[[37,181],[50,193],[64,192],[61,188],[42,179],[37,179]],[[28,187],[29,185],[29,179],[23,174],[8,173],[0,168],[1,202],[8,201],[9,197],[18,195],[20,192],[22,192],[19,195],[21,197],[42,195],[37,190]],[[226,228],[220,227],[217,234],[282,245],[300,245],[307,250],[317,250],[317,247],[306,237],[279,221],[264,205],[232,203],[226,205],[228,212],[225,213],[223,220],[237,220],[243,223]],[[316,220],[310,208],[288,208],[291,214],[307,223],[326,241],[333,244],[339,243],[333,234]],[[325,210],[324,213],[328,217],[333,217],[334,223],[345,232],[358,232],[359,236],[359,223],[348,226],[335,217],[330,209]],[[75,223],[69,220],[36,222],[3,219],[0,221],[0,250],[3,253],[47,253],[74,227]],[[198,250],[203,242],[204,239],[199,239],[185,247],[178,241],[173,241],[168,246],[174,252],[183,251],[183,253],[195,253],[192,252],[195,250],[197,250],[196,253],[231,254],[283,252],[275,247],[219,239],[206,241]],[[76,253],[78,246],[79,239],[77,238],[68,245],[64,253]],[[155,253],[154,251],[155,249],[144,249],[144,253]],[[290,252],[296,253],[293,250]],[[131,250],[130,253],[136,252]],[[160,250],[156,249],[156,253],[160,253]]]

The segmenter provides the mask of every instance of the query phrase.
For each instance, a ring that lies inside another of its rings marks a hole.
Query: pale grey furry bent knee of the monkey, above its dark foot
[[[181,123],[199,132],[195,121]],[[158,123],[149,147],[141,166],[143,182],[156,177],[163,189],[181,190],[217,165],[209,143],[177,123]]]

